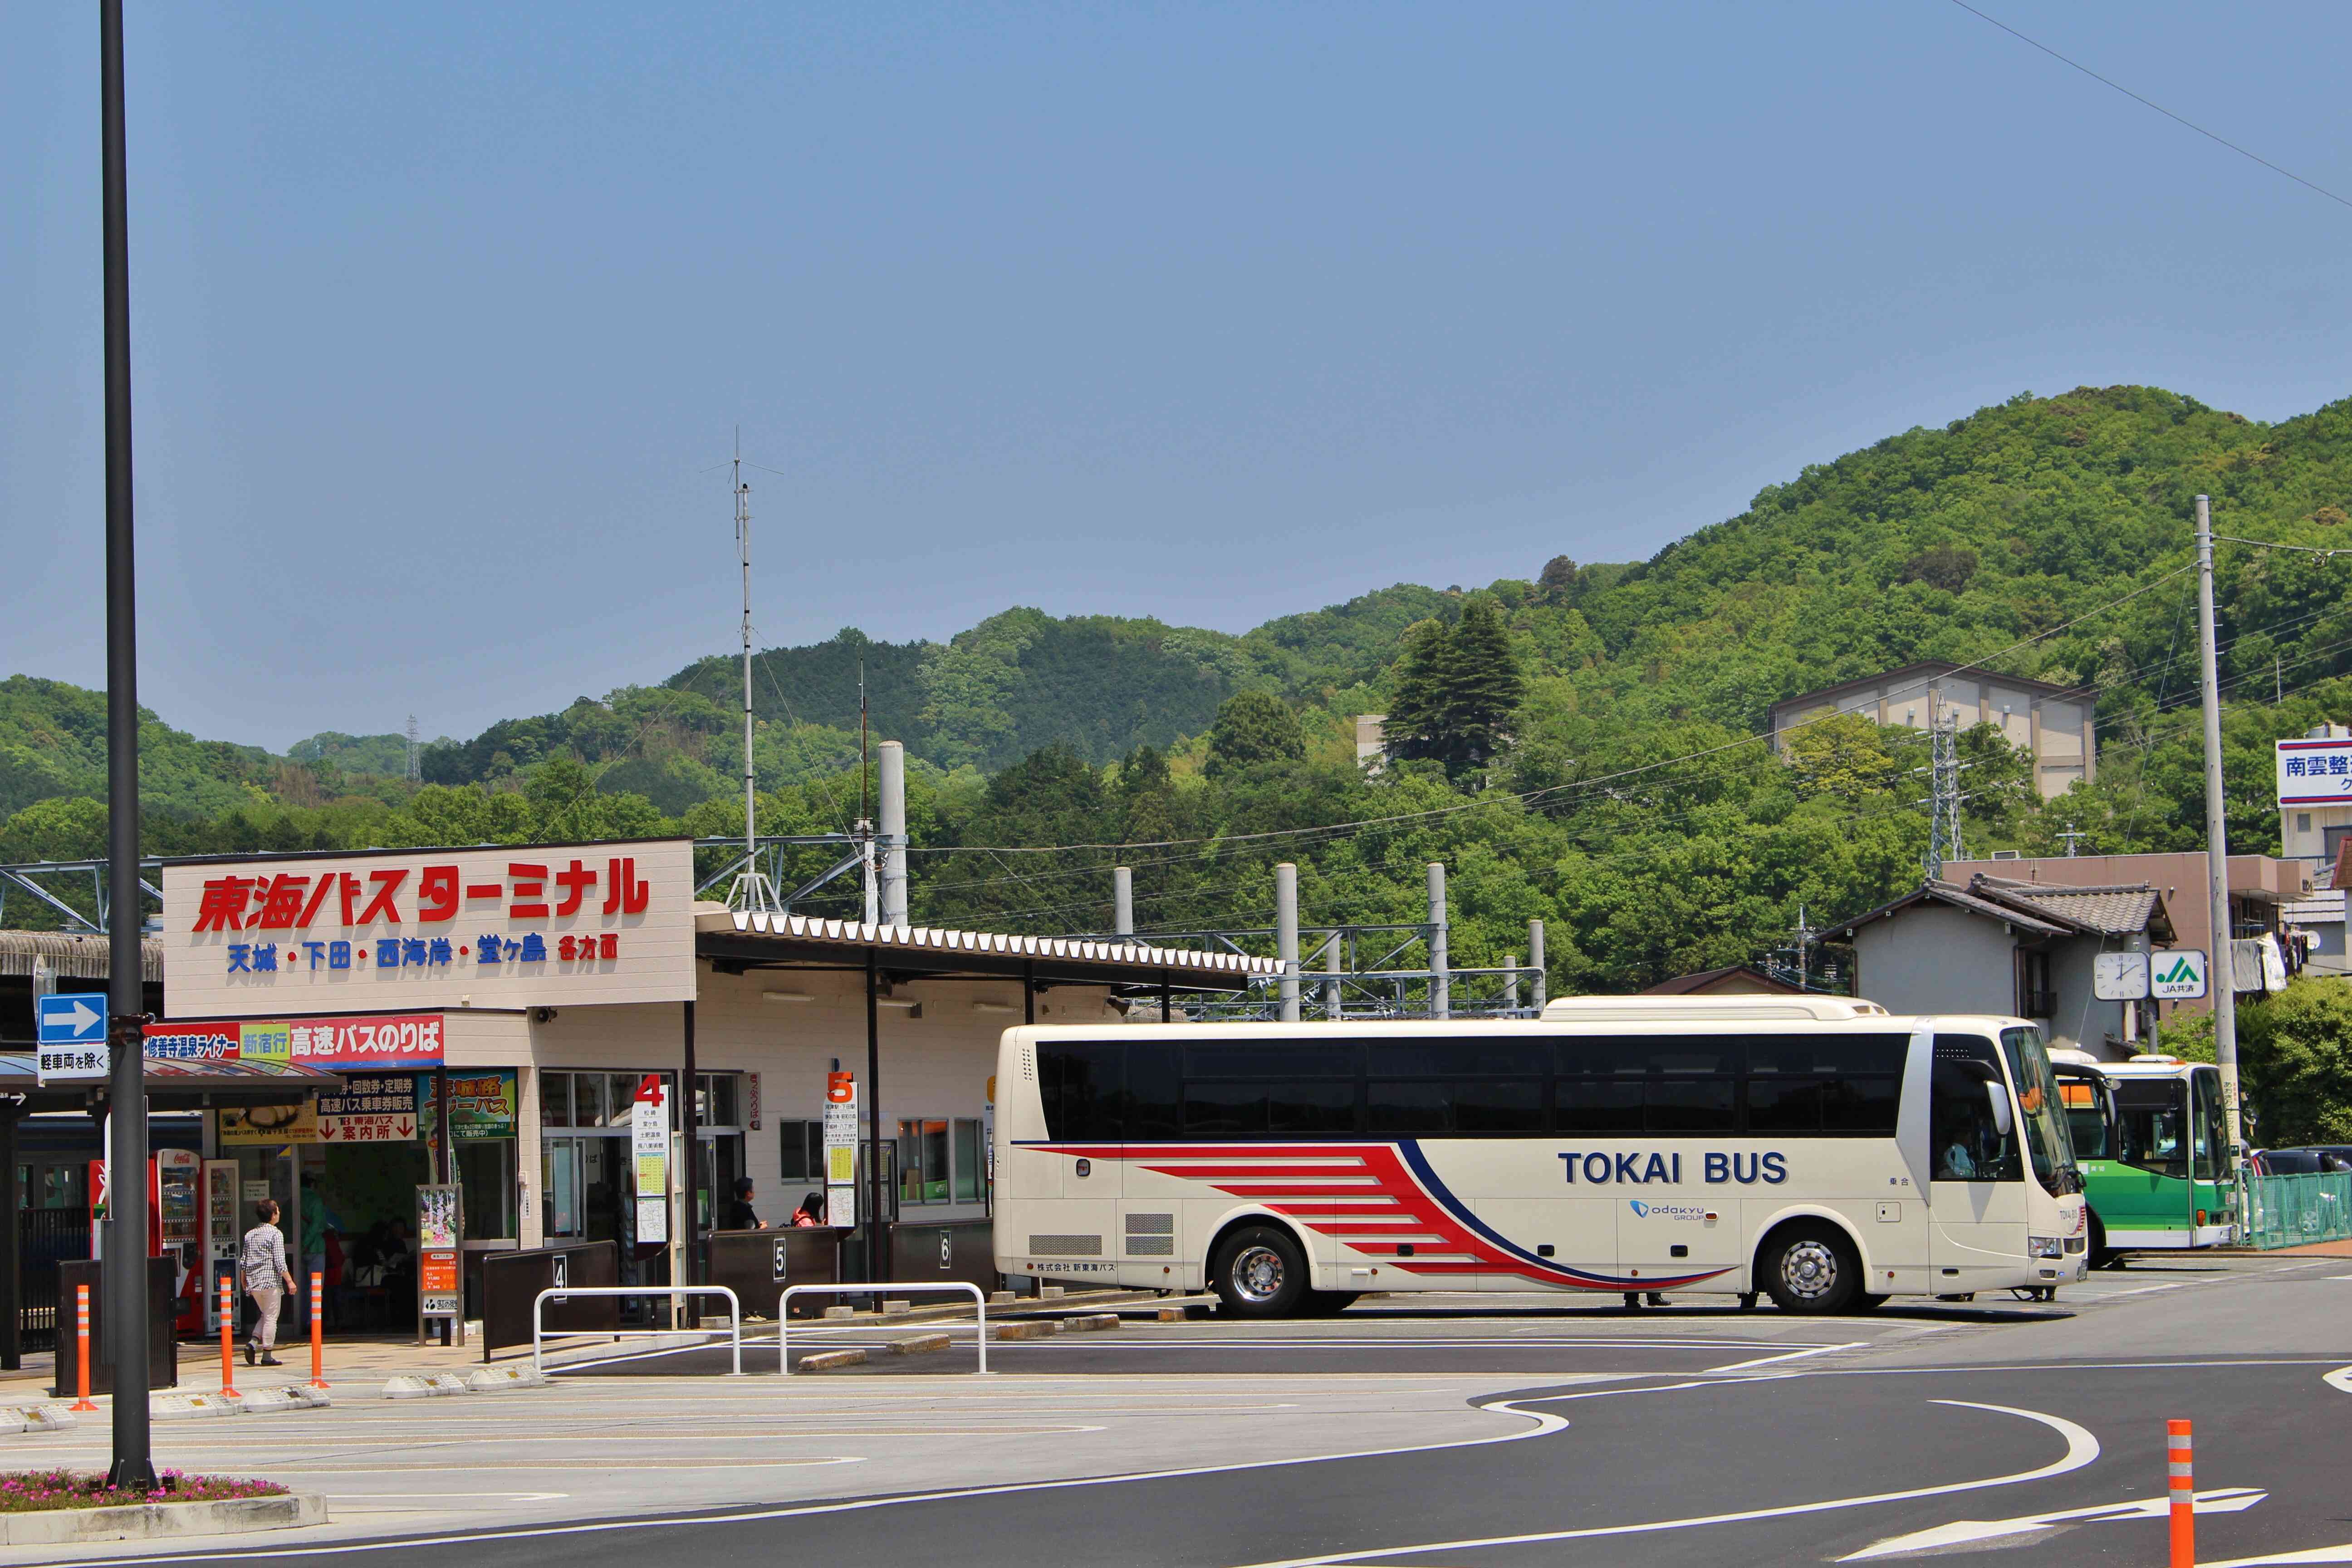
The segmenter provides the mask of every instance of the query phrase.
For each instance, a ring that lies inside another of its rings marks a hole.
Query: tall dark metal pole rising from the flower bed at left
[[[106,1225],[106,1349],[115,1375],[113,1486],[155,1488],[148,1441],[146,994],[139,964],[139,576],[132,564],[132,280],[122,153],[122,0],[99,0],[106,249],[106,1074],[113,1213]],[[14,1305],[9,1305],[14,1312]]]

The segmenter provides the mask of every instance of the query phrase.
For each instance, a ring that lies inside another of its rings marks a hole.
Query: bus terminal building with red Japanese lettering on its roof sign
[[[851,1269],[887,1276],[891,1220],[990,1213],[997,1039],[1021,1023],[1162,1018],[1270,959],[1127,943],[748,914],[694,896],[687,839],[179,860],[162,870],[162,1018],[148,1053],[343,1077],[303,1112],[207,1114],[318,1258],[325,1229],[400,1220],[463,1185],[468,1253],[637,1239],[630,1112],[670,1105],[670,1232],[724,1225],[736,1178],[767,1225],[826,1194],[828,1079],[858,1114]],[[691,1084],[691,1093],[675,1093]],[[840,1079],[833,1079],[840,1088]],[[837,1124],[840,1128],[840,1124]],[[447,1143],[445,1143],[447,1140]],[[691,1154],[687,1154],[691,1150]],[[292,1227],[289,1227],[292,1229]],[[633,1267],[635,1265],[635,1267]],[[875,1274],[849,1274],[875,1276]]]

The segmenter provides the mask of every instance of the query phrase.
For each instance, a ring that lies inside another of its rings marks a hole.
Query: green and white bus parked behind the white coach
[[[2237,1241],[2220,1070],[2178,1056],[2051,1056],[2091,1204],[2091,1267]]]

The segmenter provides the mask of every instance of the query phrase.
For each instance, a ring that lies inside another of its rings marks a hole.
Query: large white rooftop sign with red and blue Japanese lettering
[[[202,860],[162,898],[179,1018],[694,997],[687,839]]]

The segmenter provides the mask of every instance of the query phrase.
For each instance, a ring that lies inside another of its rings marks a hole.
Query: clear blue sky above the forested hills
[[[1630,559],[2032,388],[2345,395],[2352,212],[1947,0],[129,0],[141,698],[473,733],[1007,604]],[[1985,5],[2352,193],[2326,5]],[[0,12],[0,672],[103,679],[96,21]]]

